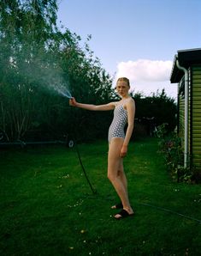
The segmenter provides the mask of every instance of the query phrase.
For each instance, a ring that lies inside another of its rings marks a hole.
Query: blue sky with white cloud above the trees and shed
[[[201,47],[200,15],[200,0],[58,0],[57,24],[83,42],[92,35],[90,49],[113,86],[127,76],[134,93],[164,88],[176,99],[177,84],[169,80],[174,55]]]

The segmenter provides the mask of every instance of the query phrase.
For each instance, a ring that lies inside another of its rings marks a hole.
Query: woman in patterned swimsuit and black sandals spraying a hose
[[[110,102],[104,105],[82,104],[71,99],[69,104],[92,111],[114,110],[114,119],[109,127],[109,154],[108,154],[108,178],[115,187],[120,204],[113,205],[112,209],[122,209],[115,215],[115,219],[121,219],[133,215],[133,209],[129,203],[127,193],[127,178],[123,168],[123,157],[127,155],[127,147],[130,141],[135,115],[135,103],[128,94],[130,82],[127,77],[121,77],[116,82],[116,91],[121,96],[121,101]],[[126,135],[124,127],[127,124]]]

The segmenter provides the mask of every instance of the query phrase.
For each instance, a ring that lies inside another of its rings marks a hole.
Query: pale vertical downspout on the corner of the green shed
[[[189,154],[188,154],[188,102],[189,102],[189,88],[188,88],[188,71],[181,67],[178,59],[176,59],[176,65],[179,70],[184,71],[185,74],[185,125],[184,125],[184,168],[188,167]]]

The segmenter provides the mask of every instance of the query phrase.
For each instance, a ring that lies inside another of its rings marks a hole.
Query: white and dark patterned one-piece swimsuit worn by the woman
[[[124,109],[123,104],[116,105],[114,110],[114,118],[109,126],[109,142],[112,137],[125,137],[124,127],[126,124],[127,110]]]

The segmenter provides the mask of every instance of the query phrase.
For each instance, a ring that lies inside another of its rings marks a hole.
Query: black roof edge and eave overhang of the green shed
[[[192,64],[201,64],[201,48],[177,51],[177,54],[174,55],[174,63],[170,76],[170,82],[172,83],[180,82],[181,77],[184,76],[184,72],[176,66],[176,59],[179,60],[180,66],[186,69]]]

